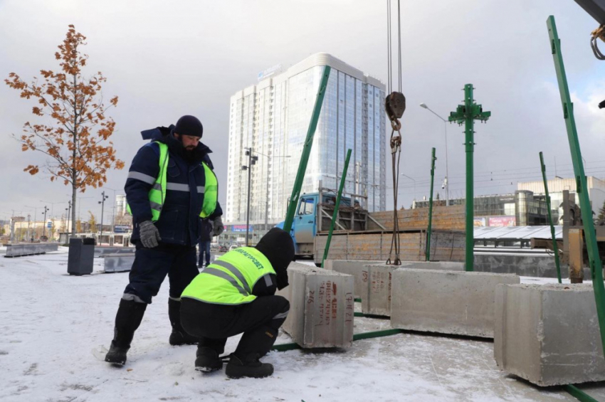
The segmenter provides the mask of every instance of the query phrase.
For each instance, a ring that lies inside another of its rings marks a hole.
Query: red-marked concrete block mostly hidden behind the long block
[[[451,261],[433,262],[401,262],[401,265],[367,264],[364,265],[362,298],[362,312],[364,314],[391,316],[391,277],[396,269],[422,269],[422,270],[456,270],[463,271],[464,263]]]

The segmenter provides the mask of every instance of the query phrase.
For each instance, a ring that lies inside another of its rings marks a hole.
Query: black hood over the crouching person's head
[[[258,240],[256,250],[271,263],[278,279],[278,289],[288,286],[288,265],[294,260],[294,242],[290,234],[280,228],[272,228]]]

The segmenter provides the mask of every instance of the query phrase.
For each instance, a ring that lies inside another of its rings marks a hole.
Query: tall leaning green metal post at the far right
[[[565,120],[565,127],[567,128],[569,149],[572,152],[574,175],[576,176],[576,191],[580,199],[580,208],[582,209],[584,239],[586,240],[586,250],[588,250],[592,287],[594,290],[594,299],[596,301],[596,315],[599,317],[601,343],[603,344],[603,350],[605,352],[605,287],[603,285],[603,265],[601,265],[599,249],[596,246],[596,233],[594,232],[594,222],[592,221],[592,208],[590,207],[588,193],[586,192],[586,176],[584,175],[584,164],[582,163],[582,153],[580,152],[576,121],[574,119],[574,105],[569,96],[567,76],[565,75],[563,55],[561,53],[561,41],[559,41],[559,36],[557,34],[557,26],[554,24],[554,16],[549,16],[546,24],[550,38],[552,59],[554,60],[554,69],[557,70],[557,81],[559,82],[559,93],[563,104],[563,118]]]

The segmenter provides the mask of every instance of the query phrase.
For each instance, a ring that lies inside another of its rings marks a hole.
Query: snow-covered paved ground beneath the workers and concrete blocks
[[[498,370],[487,341],[398,334],[338,351],[273,351],[268,379],[194,371],[171,347],[167,282],[147,308],[127,365],[102,361],[127,273],[67,274],[67,253],[0,258],[0,401],[575,401]],[[525,281],[533,281],[525,278]],[[549,281],[549,280],[545,280]],[[356,317],[356,332],[389,328]],[[226,351],[236,347],[229,339]],[[278,344],[291,342],[281,334]],[[605,396],[604,386],[589,391]]]

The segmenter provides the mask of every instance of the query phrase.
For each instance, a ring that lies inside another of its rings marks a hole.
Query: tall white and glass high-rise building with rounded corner
[[[258,156],[251,171],[254,231],[283,221],[325,65],[332,70],[301,194],[318,191],[320,183],[336,190],[350,148],[344,192],[367,197],[360,200],[369,211],[384,211],[385,85],[332,55],[317,53],[231,97],[227,223],[246,222],[248,171],[241,169],[248,164],[246,148]]]

